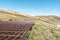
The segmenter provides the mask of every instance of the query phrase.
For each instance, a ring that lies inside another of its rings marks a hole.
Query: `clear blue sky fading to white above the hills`
[[[0,0],[0,8],[33,16],[60,16],[60,0]]]

